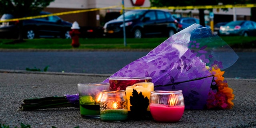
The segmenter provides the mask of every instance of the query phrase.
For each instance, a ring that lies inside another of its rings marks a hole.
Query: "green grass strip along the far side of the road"
[[[256,36],[220,36],[231,48],[239,48],[238,45],[242,44],[244,46],[255,44]],[[75,50],[108,50],[108,49],[145,49],[152,50],[156,48],[159,44],[164,42],[167,38],[142,38],[134,39],[127,38],[127,46],[124,46],[124,39],[122,38],[90,38],[79,40],[80,47]],[[24,42],[12,44],[13,40],[0,39],[0,49],[27,49],[27,50],[74,50],[72,48],[71,39],[33,39],[24,40]],[[249,48],[249,47],[248,47]],[[256,46],[252,47],[256,48]]]

